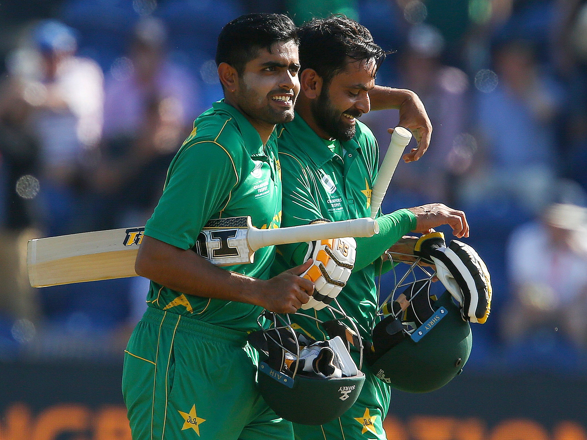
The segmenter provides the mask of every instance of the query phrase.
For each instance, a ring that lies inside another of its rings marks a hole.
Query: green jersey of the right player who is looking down
[[[355,137],[340,143],[342,157],[336,154],[336,148],[332,151],[327,144],[299,114],[291,123],[278,126],[284,185],[282,226],[308,224],[318,218],[338,221],[370,215],[371,191],[379,164],[379,148],[373,133],[357,121]],[[363,267],[355,265],[337,298],[346,313],[355,319],[363,339],[369,341],[377,310],[376,271],[372,262],[415,228],[416,216],[401,209],[381,216],[378,221],[386,226],[379,236],[357,239],[357,261],[362,259],[369,263]],[[306,249],[306,243],[279,246],[274,273],[300,264]],[[332,319],[326,309],[299,312],[325,321]],[[315,339],[326,339],[315,320],[301,316],[292,318]]]

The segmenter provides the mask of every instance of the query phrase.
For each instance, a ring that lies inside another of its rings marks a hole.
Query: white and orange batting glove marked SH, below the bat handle
[[[309,242],[304,261],[314,260],[301,276],[314,283],[310,300],[302,309],[321,310],[340,293],[355,266],[357,243],[352,237]]]

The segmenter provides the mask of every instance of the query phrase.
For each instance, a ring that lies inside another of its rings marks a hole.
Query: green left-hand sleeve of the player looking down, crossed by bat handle
[[[310,173],[291,154],[279,153],[282,174],[283,198],[282,226],[307,225],[324,218],[320,205],[312,194],[313,183]],[[289,267],[298,266],[308,250],[308,243],[292,243],[278,246],[278,253]]]

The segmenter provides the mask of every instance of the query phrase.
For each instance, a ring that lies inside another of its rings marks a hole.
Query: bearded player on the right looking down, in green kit
[[[368,216],[379,150],[372,132],[356,117],[370,110],[368,92],[375,86],[377,65],[384,52],[366,28],[341,16],[306,23],[299,36],[302,93],[294,121],[278,127],[284,188],[282,225]],[[379,216],[377,221],[379,235],[356,239],[355,268],[337,297],[367,341],[377,319],[375,276],[384,251],[410,231],[427,232],[443,224],[451,225],[458,237],[468,235],[464,213],[442,204],[400,209]],[[302,262],[307,248],[306,243],[279,246],[274,270]],[[332,319],[328,310],[305,313],[323,321]],[[313,338],[328,339],[315,320],[293,319]],[[352,354],[358,359],[358,353]],[[383,418],[389,408],[390,388],[368,367],[363,367],[363,372],[365,385],[349,411],[321,426],[294,424],[296,438],[385,439]]]

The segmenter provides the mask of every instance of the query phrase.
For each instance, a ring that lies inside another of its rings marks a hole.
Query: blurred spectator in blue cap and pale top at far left
[[[75,51],[73,29],[49,20],[33,29],[31,48],[9,59],[6,90],[30,107],[25,124],[39,142],[39,195],[48,235],[85,229],[80,181],[102,131],[102,71]]]

